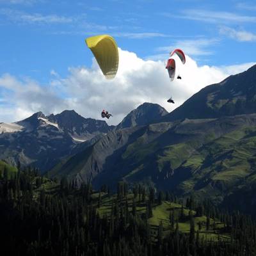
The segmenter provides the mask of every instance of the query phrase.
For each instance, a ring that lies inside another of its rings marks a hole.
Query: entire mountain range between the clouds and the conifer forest
[[[33,164],[51,177],[90,180],[95,188],[141,182],[237,207],[244,191],[248,202],[239,207],[250,211],[256,204],[255,101],[256,65],[206,86],[171,113],[144,103],[115,127],[74,111],[36,113],[0,124],[0,158]]]

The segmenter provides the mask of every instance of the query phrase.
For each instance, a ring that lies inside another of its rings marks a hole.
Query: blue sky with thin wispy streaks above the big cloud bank
[[[255,62],[255,25],[255,1],[0,0],[3,118],[12,120],[10,113],[19,118],[10,109],[20,108],[8,102],[17,91],[6,85],[6,74],[26,88],[33,80],[39,89],[50,90],[58,99],[76,101],[61,86],[56,92],[52,83],[67,81],[72,76],[70,68],[92,67],[92,52],[84,44],[88,36],[112,35],[120,49],[134,52],[143,61],[163,61],[174,47],[180,47],[198,67],[221,68]],[[32,113],[42,104],[35,107],[35,102],[24,113]]]

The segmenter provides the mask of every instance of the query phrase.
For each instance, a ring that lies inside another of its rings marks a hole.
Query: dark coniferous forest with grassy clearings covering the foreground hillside
[[[120,182],[116,191],[58,182],[31,168],[19,167],[14,174],[5,168],[1,255],[256,255],[256,223],[250,216],[141,185]],[[168,221],[160,216],[152,225],[164,205],[175,206],[166,208]]]

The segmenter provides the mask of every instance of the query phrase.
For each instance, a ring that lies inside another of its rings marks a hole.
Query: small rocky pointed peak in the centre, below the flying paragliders
[[[145,102],[125,116],[116,129],[151,124],[167,114],[168,112],[160,105]]]

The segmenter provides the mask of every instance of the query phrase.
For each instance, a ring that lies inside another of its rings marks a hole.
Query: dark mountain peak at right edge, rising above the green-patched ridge
[[[251,113],[256,113],[256,65],[227,77],[221,83],[206,86],[162,120],[168,122]]]

